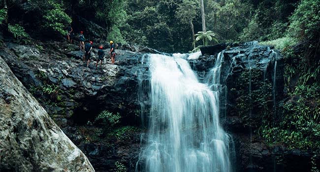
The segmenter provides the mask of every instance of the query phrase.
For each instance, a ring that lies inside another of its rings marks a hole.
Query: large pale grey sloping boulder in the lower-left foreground
[[[95,172],[0,57],[0,171]]]

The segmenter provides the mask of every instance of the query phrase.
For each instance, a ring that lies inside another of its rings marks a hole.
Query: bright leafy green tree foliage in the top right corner
[[[318,40],[320,33],[320,0],[302,0],[290,17],[288,34],[300,40]]]

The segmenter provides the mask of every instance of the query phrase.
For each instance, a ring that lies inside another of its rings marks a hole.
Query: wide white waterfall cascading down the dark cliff
[[[187,60],[150,55],[147,145],[136,171],[231,172],[234,148],[219,122],[222,58],[219,54],[208,83],[202,84]]]

